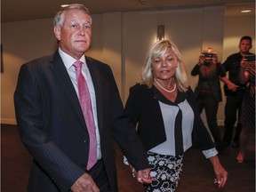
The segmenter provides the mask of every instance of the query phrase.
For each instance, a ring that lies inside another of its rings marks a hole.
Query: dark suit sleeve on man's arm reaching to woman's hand
[[[149,167],[146,149],[144,148],[131,119],[124,113],[124,106],[120,99],[120,94],[112,71],[108,66],[106,69],[108,70],[108,73],[106,74],[108,74],[108,83],[111,88],[109,91],[103,92],[103,94],[109,94],[109,100],[106,100],[106,102],[111,105],[107,107],[109,110],[105,111],[103,116],[108,116],[108,114],[112,115],[109,118],[112,119],[112,134],[122,148],[124,156],[127,157],[129,163],[132,164],[137,171],[146,169]],[[108,106],[108,104],[106,104],[106,106]],[[103,135],[100,138],[100,140],[104,140]],[[104,143],[101,144],[101,148],[103,145]]]

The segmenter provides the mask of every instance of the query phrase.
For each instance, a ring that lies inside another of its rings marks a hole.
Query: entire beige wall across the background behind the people
[[[87,55],[111,66],[124,101],[130,86],[140,80],[140,68],[150,45],[156,42],[157,25],[164,25],[165,38],[180,48],[192,88],[195,88],[197,78],[190,76],[190,70],[202,49],[212,46],[220,60],[224,60],[230,53],[237,52],[241,36],[255,36],[255,15],[225,17],[223,6],[111,12],[92,15],[92,20],[92,46]],[[1,123],[16,124],[13,92],[20,65],[55,51],[52,19],[2,23],[2,44],[4,73],[1,74]],[[220,124],[224,118],[224,104],[220,103]]]

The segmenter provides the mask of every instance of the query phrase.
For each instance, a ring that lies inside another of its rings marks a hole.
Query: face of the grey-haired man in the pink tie
[[[60,41],[60,49],[79,60],[91,44],[91,27],[91,17],[85,12],[79,10],[65,12],[63,25],[54,27],[55,36]]]

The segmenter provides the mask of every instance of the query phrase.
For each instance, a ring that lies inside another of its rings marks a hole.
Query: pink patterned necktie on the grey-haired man
[[[89,171],[92,166],[97,163],[97,141],[92,113],[92,102],[88,86],[86,84],[84,76],[82,75],[83,62],[80,60],[76,60],[73,65],[76,68],[76,81],[78,85],[79,101],[83,110],[84,120],[90,136],[90,151],[87,164],[87,170]]]

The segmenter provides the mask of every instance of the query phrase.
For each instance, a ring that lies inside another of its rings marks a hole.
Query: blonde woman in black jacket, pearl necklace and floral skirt
[[[137,124],[148,151],[152,184],[145,191],[174,191],[180,180],[183,155],[192,146],[192,132],[204,156],[212,162],[216,179],[223,188],[228,172],[196,111],[184,63],[175,44],[163,40],[153,44],[142,68],[142,81],[130,90],[125,111]],[[136,172],[135,172],[136,175]]]

